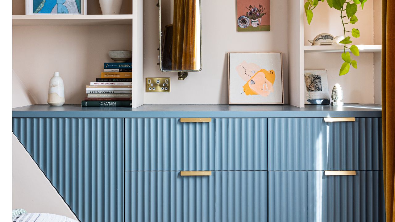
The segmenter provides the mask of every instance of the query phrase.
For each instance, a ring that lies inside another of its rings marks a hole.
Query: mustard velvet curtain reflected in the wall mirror
[[[196,0],[174,0],[172,70],[194,70]]]

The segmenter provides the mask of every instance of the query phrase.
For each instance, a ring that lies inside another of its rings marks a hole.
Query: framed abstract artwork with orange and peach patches
[[[228,53],[229,104],[284,104],[281,53]]]

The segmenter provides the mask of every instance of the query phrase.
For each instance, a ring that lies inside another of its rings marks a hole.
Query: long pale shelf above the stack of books
[[[133,15],[13,15],[13,25],[132,24]]]

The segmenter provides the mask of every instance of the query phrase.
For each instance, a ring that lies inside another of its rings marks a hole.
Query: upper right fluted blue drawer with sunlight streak
[[[382,170],[381,118],[268,119],[269,170]]]

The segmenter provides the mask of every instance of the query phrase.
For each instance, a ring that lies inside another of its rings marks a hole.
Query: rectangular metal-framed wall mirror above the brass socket
[[[200,71],[201,0],[159,0],[159,64],[164,72]]]

